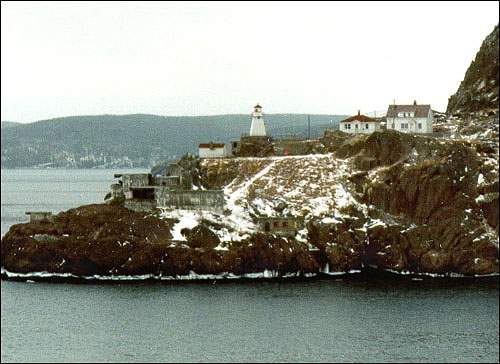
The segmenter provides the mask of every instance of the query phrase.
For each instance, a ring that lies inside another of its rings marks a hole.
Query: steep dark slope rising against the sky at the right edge
[[[498,110],[498,25],[486,37],[457,92],[448,100],[447,114]]]

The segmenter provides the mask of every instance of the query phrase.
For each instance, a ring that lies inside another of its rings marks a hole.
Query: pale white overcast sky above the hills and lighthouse
[[[1,4],[1,118],[445,110],[498,2]]]

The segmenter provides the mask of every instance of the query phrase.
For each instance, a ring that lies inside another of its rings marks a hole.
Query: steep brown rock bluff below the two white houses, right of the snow
[[[484,163],[477,145],[374,133],[356,150],[354,163],[368,171],[354,180],[361,200],[399,219],[368,229],[368,262],[434,273],[498,271],[498,165]]]

